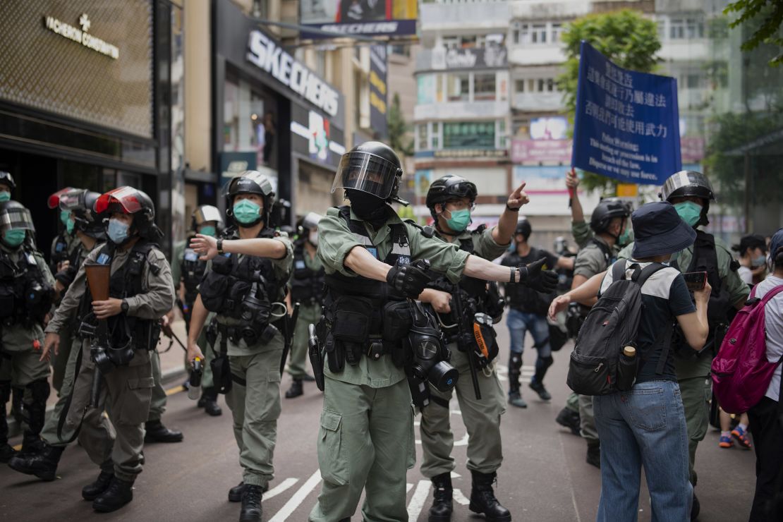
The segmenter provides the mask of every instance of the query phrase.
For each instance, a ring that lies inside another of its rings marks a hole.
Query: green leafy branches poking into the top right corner
[[[731,2],[723,9],[723,13],[738,13],[737,20],[729,23],[729,27],[741,27],[745,23],[754,23],[756,27],[747,40],[742,42],[743,51],[752,51],[761,44],[770,44],[778,49],[769,60],[772,67],[783,63],[783,2],[781,0],[738,0]]]

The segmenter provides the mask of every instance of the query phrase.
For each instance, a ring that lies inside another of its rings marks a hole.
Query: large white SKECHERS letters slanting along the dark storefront
[[[319,109],[337,116],[340,108],[337,91],[261,31],[251,31],[247,42],[247,59]]]

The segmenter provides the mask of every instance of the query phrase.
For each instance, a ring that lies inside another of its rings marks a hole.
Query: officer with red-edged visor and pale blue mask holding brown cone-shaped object
[[[78,437],[92,462],[101,468],[97,480],[85,486],[81,496],[92,500],[93,509],[110,512],[132,501],[133,483],[142,471],[144,423],[153,388],[150,352],[157,346],[161,317],[174,306],[174,283],[168,261],[156,244],[163,233],[154,223],[150,196],[124,186],[101,195],[93,210],[109,217],[108,240],[92,250],[79,268],[46,327],[43,356],[56,350],[58,332],[76,311],[83,337],[81,365],[66,423],[75,430],[90,410],[106,409],[109,414],[116,440],[111,430],[96,423],[83,424]],[[92,299],[85,275],[88,264],[110,266],[106,301]],[[98,322],[103,320],[108,346],[102,346],[97,337]],[[96,373],[98,386],[93,390]]]

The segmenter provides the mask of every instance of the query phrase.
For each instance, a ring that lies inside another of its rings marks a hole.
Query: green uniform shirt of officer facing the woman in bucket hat
[[[750,289],[747,284],[742,282],[739,274],[735,270],[731,270],[731,261],[733,257],[729,252],[728,246],[720,238],[715,238],[715,250],[718,258],[718,275],[720,275],[721,288],[729,293],[729,302],[733,305],[738,302],[745,301],[748,298]],[[633,243],[623,248],[618,254],[619,258],[630,259],[633,253]],[[677,257],[673,257],[677,260],[677,268],[680,272],[687,270],[691,265],[693,259],[693,245],[687,247],[685,250],[680,250]],[[677,379],[689,379],[691,377],[703,377],[709,374],[709,369],[712,365],[713,359],[711,357],[702,355],[700,357],[681,358],[674,359],[675,367],[677,369]]]

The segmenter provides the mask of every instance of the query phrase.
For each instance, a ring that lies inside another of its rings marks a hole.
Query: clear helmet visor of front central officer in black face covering
[[[399,167],[375,154],[346,153],[334,175],[332,192],[337,189],[355,189],[385,200],[391,196],[391,189],[399,174]]]

